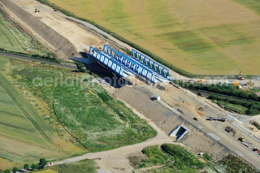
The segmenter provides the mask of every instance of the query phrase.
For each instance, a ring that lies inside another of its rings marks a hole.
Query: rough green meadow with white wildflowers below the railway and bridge
[[[42,108],[42,103],[37,102],[37,99],[31,102],[39,107],[39,112],[44,112],[42,116],[65,140],[95,152],[139,143],[156,135],[150,125],[122,102],[114,100],[104,88],[93,84],[93,76],[89,74],[75,74],[69,69],[14,60],[10,61],[9,66],[4,72],[12,76],[11,79],[19,89],[24,90],[25,87],[26,92],[46,103],[49,112]],[[39,84],[44,83],[46,77],[54,81],[56,78],[57,86],[34,86],[35,76],[43,79],[43,82],[39,80]],[[69,85],[61,84],[65,78],[74,78],[80,84],[70,85],[71,80],[68,80]],[[66,136],[62,127],[57,125],[60,123],[76,141]]]

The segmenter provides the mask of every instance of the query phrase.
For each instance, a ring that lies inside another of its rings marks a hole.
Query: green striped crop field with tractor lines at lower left
[[[0,68],[6,62],[0,57]],[[0,157],[4,159],[20,165],[41,157],[65,157],[83,152],[61,140],[3,72],[0,72],[0,115]]]

